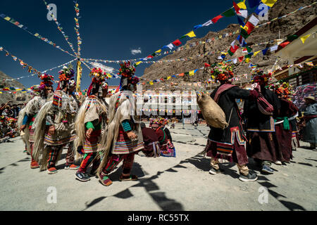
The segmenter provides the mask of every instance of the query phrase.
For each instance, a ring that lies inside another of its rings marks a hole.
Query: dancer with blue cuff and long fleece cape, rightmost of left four
[[[120,91],[110,98],[108,110],[108,131],[106,143],[101,140],[104,158],[98,169],[99,181],[104,186],[112,184],[108,174],[123,160],[120,181],[135,181],[137,176],[130,174],[135,153],[144,148],[142,130],[137,121],[136,91],[139,78],[134,76],[135,68],[130,62],[121,64]]]

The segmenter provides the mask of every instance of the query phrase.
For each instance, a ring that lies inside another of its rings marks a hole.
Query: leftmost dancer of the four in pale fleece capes
[[[31,155],[31,169],[39,168],[38,161],[32,156],[34,143],[35,143],[35,118],[37,113],[42,108],[42,106],[49,101],[53,91],[53,77],[51,75],[43,74],[39,76],[42,79],[42,82],[38,86],[32,86],[31,90],[35,93],[35,97],[25,105],[22,112],[20,113],[19,118],[22,119],[22,125],[20,126],[20,131],[23,131],[23,140],[26,143],[27,150],[30,150]],[[36,94],[37,93],[37,94]],[[18,124],[20,124],[19,120]],[[29,147],[30,146],[30,147]]]

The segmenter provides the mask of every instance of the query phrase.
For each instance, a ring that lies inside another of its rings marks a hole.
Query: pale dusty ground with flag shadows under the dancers
[[[136,155],[132,173],[139,181],[120,182],[120,164],[108,187],[94,177],[77,181],[75,171],[63,169],[66,149],[58,173],[47,174],[30,169],[20,137],[0,143],[0,210],[317,210],[317,152],[306,149],[308,143],[293,152],[290,164],[273,164],[274,174],[261,174],[249,160],[259,179],[244,183],[235,164],[223,163],[222,174],[209,174],[210,158],[199,155],[208,127],[177,124],[170,133],[176,158]]]

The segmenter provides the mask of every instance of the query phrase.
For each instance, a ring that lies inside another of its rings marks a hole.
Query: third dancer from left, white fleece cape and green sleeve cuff
[[[103,72],[100,68],[94,68],[89,76],[92,77],[92,84],[89,86],[87,98],[81,105],[75,120],[77,134],[75,148],[82,146],[80,148],[82,148],[82,153],[84,153],[80,169],[75,174],[76,179],[80,181],[90,180],[87,168],[91,164],[90,176],[97,174],[97,169],[100,165],[100,157],[97,155],[97,150],[101,141],[101,131],[105,131],[107,121],[105,98],[108,94],[108,83],[106,82],[106,72]],[[106,134],[102,137],[106,139]]]

